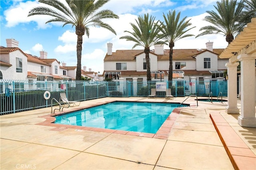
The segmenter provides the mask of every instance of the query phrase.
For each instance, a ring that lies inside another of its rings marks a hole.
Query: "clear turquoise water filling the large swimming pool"
[[[184,107],[185,105],[181,105]],[[113,102],[56,116],[55,123],[156,133],[173,109],[173,103]]]

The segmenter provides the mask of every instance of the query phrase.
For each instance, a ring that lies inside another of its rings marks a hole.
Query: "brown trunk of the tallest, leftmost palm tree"
[[[76,65],[76,80],[81,80],[81,58],[82,58],[82,43],[83,43],[83,35],[84,35],[84,27],[76,26],[76,35],[77,35],[77,44],[76,44],[76,57],[77,57],[77,65]]]

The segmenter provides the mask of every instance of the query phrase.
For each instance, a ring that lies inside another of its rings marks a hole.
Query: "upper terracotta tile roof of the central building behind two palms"
[[[220,53],[224,49],[213,49],[213,51],[210,51],[212,53],[216,53],[217,55],[220,55]],[[158,60],[168,60],[169,59],[169,51],[170,49],[165,49],[163,55],[158,55]],[[207,49],[202,49],[202,51],[198,51],[197,49],[174,49],[173,50],[173,60],[181,60],[181,59],[193,59],[194,56],[203,53],[205,51],[209,51]],[[112,55],[107,55],[104,58],[104,61],[128,61],[128,60],[134,60],[135,57],[141,53],[144,53],[144,50],[137,49],[137,50],[116,50],[116,52],[112,52]],[[156,55],[154,51],[151,51],[150,53]]]

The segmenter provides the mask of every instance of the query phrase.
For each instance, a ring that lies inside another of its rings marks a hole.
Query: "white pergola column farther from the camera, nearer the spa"
[[[226,63],[228,68],[228,106],[226,107],[227,113],[239,114],[237,107],[237,66],[236,63]]]

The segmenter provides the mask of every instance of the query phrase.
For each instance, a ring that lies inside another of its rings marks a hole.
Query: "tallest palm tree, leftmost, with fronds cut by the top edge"
[[[106,18],[119,18],[111,10],[100,10],[104,4],[109,0],[66,0],[67,4],[60,2],[60,0],[38,0],[43,4],[47,4],[50,7],[39,6],[33,8],[28,13],[28,16],[34,15],[48,15],[53,18],[48,20],[49,22],[63,22],[63,26],[66,24],[72,24],[76,28],[77,45],[77,70],[76,80],[81,80],[81,57],[82,57],[82,42],[83,35],[89,38],[90,26],[102,27],[110,30],[116,34],[115,30],[109,25],[102,22],[102,19]]]

